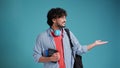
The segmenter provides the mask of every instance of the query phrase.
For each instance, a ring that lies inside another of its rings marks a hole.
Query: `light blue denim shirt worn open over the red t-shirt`
[[[73,53],[82,55],[86,53],[87,46],[81,46],[76,37],[70,31],[71,41],[73,44]],[[45,32],[38,35],[36,39],[36,45],[34,47],[34,54],[33,57],[36,62],[39,62],[39,58],[44,55],[45,50],[48,48],[56,49],[54,39],[51,35],[51,28],[47,29]],[[64,62],[66,68],[73,68],[74,64],[74,57],[72,55],[69,38],[66,34],[66,31],[63,29],[63,49],[64,49]],[[59,68],[59,64],[52,63],[52,62],[45,62],[44,68]]]

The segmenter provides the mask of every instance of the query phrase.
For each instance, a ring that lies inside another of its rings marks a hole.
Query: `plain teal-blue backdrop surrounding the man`
[[[33,48],[54,7],[67,11],[66,25],[82,45],[109,41],[83,55],[84,68],[120,68],[119,0],[0,0],[0,68],[43,67]]]

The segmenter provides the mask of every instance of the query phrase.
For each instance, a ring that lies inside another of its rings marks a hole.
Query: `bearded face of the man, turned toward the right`
[[[56,27],[59,27],[59,28],[65,27],[65,23],[66,23],[66,16],[62,16],[60,18],[54,19],[54,25]]]

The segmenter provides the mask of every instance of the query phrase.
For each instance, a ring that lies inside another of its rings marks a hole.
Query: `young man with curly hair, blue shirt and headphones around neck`
[[[62,8],[52,8],[47,14],[47,23],[50,26],[45,32],[41,33],[36,40],[34,48],[34,59],[43,62],[44,68],[73,68],[76,53],[82,55],[95,46],[105,44],[106,41],[97,40],[88,46],[81,46],[74,34],[70,31],[73,44],[71,50],[69,38],[64,30],[67,13]],[[57,50],[52,56],[47,56],[48,49]]]

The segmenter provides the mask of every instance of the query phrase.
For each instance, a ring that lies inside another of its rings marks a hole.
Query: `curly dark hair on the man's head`
[[[67,16],[67,12],[62,8],[52,8],[47,14],[47,24],[51,27],[53,25],[53,18],[60,18],[62,16]]]

